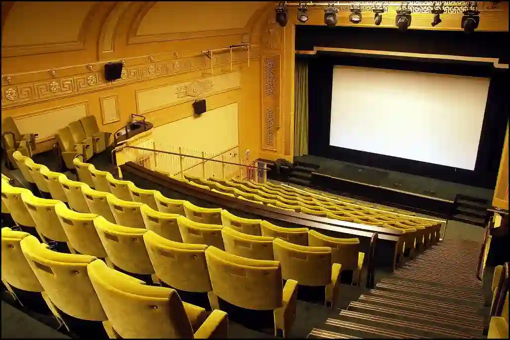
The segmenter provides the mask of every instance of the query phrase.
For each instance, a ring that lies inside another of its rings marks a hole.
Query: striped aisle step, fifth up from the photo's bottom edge
[[[475,310],[453,309],[438,303],[420,304],[414,301],[387,299],[374,295],[362,295],[358,299],[358,302],[364,302],[383,307],[395,307],[410,312],[421,312],[429,316],[441,317],[444,320],[450,320],[453,322],[458,321],[461,323],[474,325],[481,325],[483,322],[483,318],[480,315],[477,315]]]

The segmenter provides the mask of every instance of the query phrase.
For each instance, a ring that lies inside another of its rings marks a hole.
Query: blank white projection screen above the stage
[[[474,170],[489,78],[335,66],[329,144]]]

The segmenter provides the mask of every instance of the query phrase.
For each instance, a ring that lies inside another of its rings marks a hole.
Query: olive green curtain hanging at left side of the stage
[[[296,60],[294,82],[294,156],[301,156],[308,154],[308,62]]]

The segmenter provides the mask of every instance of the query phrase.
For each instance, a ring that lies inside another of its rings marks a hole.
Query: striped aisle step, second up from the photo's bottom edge
[[[408,334],[390,329],[382,329],[380,327],[367,326],[355,322],[348,322],[344,320],[328,318],[324,325],[321,326],[321,331],[330,331],[340,334],[348,334],[351,336],[361,338],[394,338],[394,339],[419,339],[423,336]]]

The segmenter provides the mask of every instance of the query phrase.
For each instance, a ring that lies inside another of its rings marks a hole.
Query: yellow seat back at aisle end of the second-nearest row
[[[244,258],[216,247],[206,249],[213,292],[221,299],[247,309],[282,306],[282,269],[278,261]]]

